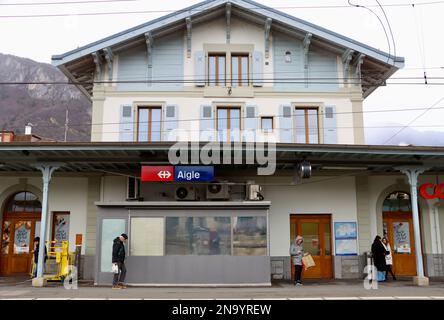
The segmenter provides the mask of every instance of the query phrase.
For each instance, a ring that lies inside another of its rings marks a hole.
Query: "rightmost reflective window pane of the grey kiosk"
[[[267,255],[267,217],[233,218],[233,255]]]

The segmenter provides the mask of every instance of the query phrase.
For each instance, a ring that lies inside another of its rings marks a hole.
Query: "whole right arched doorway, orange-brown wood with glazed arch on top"
[[[383,202],[383,234],[393,256],[393,270],[399,276],[416,275],[415,237],[410,195],[403,191],[390,193]]]

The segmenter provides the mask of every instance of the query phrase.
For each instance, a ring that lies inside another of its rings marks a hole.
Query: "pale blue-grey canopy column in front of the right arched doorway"
[[[422,259],[421,233],[419,227],[418,214],[418,176],[429,168],[426,167],[400,167],[397,168],[404,173],[410,184],[410,200],[412,202],[413,215],[413,233],[415,236],[415,256],[416,256],[416,277],[413,278],[413,284],[418,286],[427,286],[429,279],[424,276],[424,264]]]

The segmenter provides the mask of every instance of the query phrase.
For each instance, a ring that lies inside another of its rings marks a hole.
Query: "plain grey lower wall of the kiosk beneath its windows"
[[[134,284],[261,284],[270,282],[270,257],[163,256],[128,257],[127,283]],[[110,284],[100,273],[99,284]]]

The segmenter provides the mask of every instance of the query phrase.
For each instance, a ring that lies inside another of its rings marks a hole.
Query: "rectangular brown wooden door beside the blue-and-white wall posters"
[[[333,277],[330,215],[291,215],[290,244],[297,235],[304,238],[304,252],[313,256],[316,266],[302,271],[303,279],[331,279]],[[294,266],[291,264],[294,277]]]

